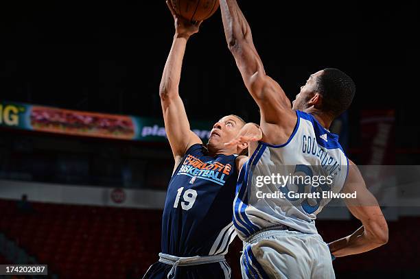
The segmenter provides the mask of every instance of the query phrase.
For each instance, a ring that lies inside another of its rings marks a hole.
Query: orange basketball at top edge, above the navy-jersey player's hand
[[[209,19],[219,8],[218,0],[171,0],[176,14],[189,21]]]

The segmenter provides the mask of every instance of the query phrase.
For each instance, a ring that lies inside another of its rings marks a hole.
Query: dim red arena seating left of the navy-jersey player
[[[159,210],[35,202],[32,207],[33,213],[23,214],[16,202],[0,200],[0,231],[60,278],[125,279],[133,266],[137,274],[131,276],[139,278],[150,265],[145,258],[159,253]]]

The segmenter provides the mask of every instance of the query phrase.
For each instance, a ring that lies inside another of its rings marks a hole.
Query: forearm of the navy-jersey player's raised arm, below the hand
[[[178,94],[178,86],[180,82],[181,69],[183,66],[183,58],[185,48],[187,47],[188,36],[175,34],[174,41],[167,57],[165,69],[163,70],[159,93],[165,98],[168,95]]]

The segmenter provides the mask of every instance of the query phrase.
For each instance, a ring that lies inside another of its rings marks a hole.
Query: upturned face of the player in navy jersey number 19
[[[232,141],[242,127],[244,127],[244,124],[234,115],[223,117],[213,125],[209,137],[209,145],[216,149],[224,149],[224,143]]]

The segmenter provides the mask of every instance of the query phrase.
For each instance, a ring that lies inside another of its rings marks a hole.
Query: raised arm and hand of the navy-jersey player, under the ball
[[[198,32],[199,23],[189,23],[174,12],[172,5],[166,1],[175,21],[175,35],[169,56],[163,70],[159,95],[165,121],[165,130],[169,139],[175,160],[179,160],[185,151],[196,143],[202,143],[200,138],[191,131],[183,100],[180,99],[178,86],[183,65],[187,40]]]

